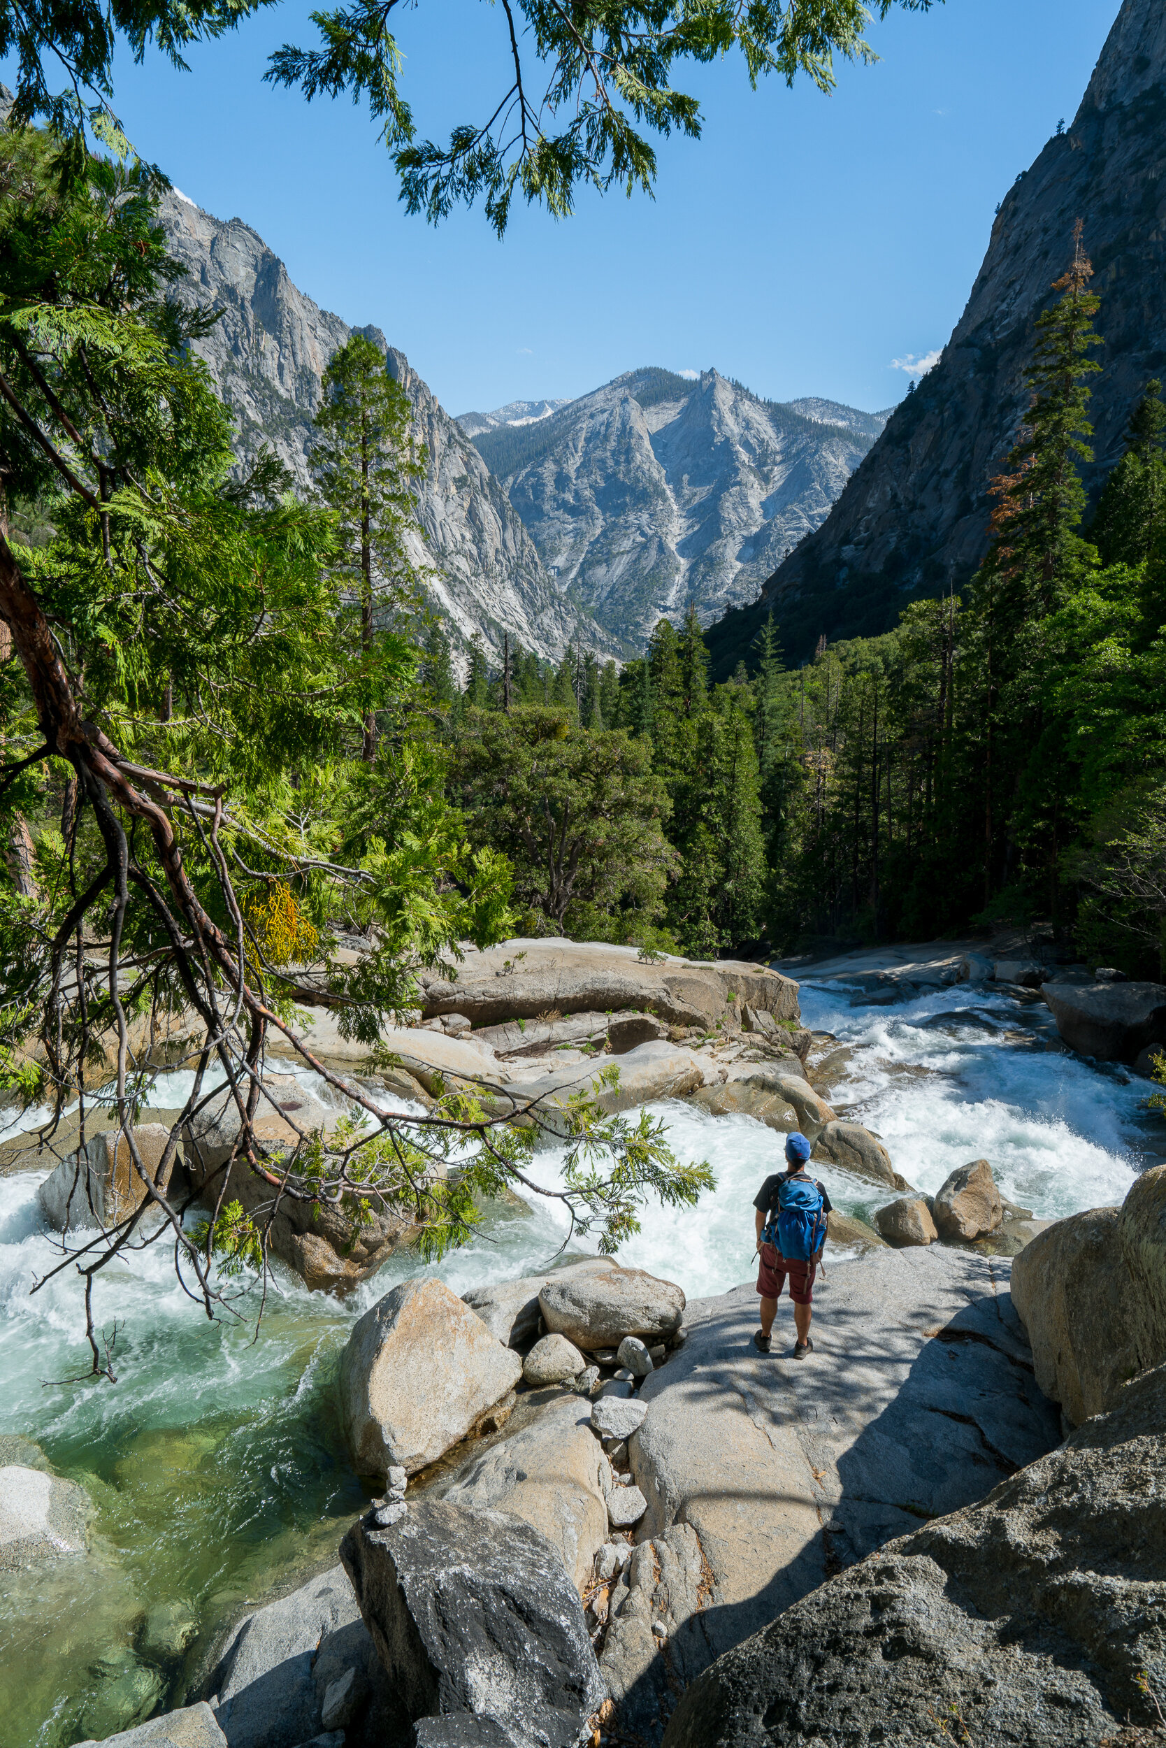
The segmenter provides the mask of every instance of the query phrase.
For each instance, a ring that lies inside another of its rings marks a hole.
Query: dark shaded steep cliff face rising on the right
[[[787,649],[883,631],[904,600],[958,589],[988,544],[988,482],[1026,409],[1033,322],[1084,243],[1101,295],[1093,379],[1096,489],[1119,458],[1147,378],[1166,374],[1166,12],[1124,0],[1073,124],[1005,194],[988,253],[940,362],[892,414],[823,528],[731,628],[743,647],[773,608]],[[792,645],[792,647],[790,647]],[[725,647],[729,662],[732,650]]]

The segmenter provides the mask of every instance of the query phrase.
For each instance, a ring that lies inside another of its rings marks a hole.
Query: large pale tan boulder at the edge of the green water
[[[341,1355],[344,1433],[362,1475],[435,1463],[496,1407],[523,1362],[437,1280],[413,1280],[360,1318]]]

